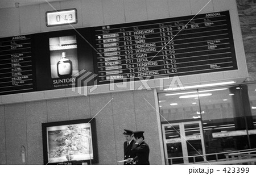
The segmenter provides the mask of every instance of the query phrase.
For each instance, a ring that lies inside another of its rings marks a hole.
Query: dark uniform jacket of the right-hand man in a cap
[[[142,142],[141,144],[134,144],[133,151],[135,151],[136,156],[133,159],[136,165],[149,165],[149,152],[150,149],[146,142]]]

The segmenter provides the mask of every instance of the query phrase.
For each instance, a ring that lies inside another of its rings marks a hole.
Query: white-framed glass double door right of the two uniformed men
[[[204,161],[203,157],[197,156],[205,155],[201,121],[162,124],[162,130],[167,164]]]

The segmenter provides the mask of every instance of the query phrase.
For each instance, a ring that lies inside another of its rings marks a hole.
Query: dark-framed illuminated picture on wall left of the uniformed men
[[[44,164],[98,163],[95,119],[42,123]]]

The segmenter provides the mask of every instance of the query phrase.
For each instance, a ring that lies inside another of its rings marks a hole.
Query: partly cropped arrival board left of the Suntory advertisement
[[[33,91],[30,35],[0,39],[0,95]]]

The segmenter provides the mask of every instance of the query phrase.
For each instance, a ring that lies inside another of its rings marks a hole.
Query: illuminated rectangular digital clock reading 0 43
[[[46,26],[60,26],[66,24],[77,23],[76,9],[47,11],[46,12]]]

